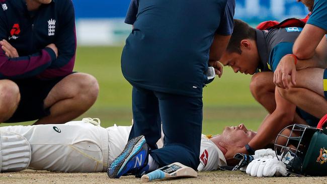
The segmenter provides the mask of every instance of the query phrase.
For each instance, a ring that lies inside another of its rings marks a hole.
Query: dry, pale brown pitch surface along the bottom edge
[[[134,176],[122,176],[110,179],[105,172],[98,173],[61,173],[24,170],[20,172],[0,173],[0,183],[143,183]],[[251,177],[241,171],[198,172],[196,178],[154,180],[148,183],[327,183],[327,177]]]

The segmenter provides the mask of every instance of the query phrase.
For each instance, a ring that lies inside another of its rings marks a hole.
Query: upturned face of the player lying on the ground
[[[225,127],[221,135],[225,143],[243,147],[248,144],[256,134],[256,132],[248,130],[246,126],[240,124],[237,127]]]

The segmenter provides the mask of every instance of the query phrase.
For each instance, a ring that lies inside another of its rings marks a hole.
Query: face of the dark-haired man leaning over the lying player
[[[224,66],[230,66],[235,73],[255,74],[259,63],[256,55],[248,49],[241,48],[241,51],[241,54],[224,52],[219,61]]]

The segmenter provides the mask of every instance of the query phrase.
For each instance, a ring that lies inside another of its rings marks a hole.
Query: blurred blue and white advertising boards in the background
[[[122,45],[131,26],[124,24],[130,0],[73,0],[79,45]],[[235,18],[255,26],[267,20],[303,18],[296,0],[236,0]]]

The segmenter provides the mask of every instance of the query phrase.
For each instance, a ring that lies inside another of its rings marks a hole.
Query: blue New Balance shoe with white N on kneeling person
[[[109,165],[108,176],[119,178],[122,175],[133,174],[140,177],[149,168],[147,165],[149,153],[150,148],[143,135],[129,140],[123,152]]]

